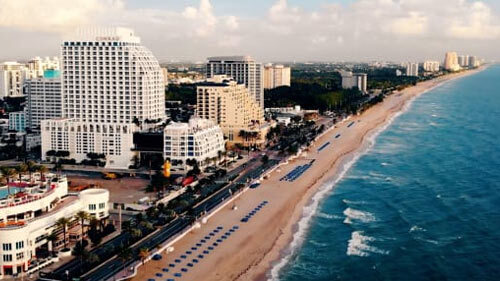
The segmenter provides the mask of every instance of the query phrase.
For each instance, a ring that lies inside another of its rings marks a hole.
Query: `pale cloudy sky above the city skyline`
[[[500,0],[0,0],[0,60],[85,26],[132,28],[161,62],[500,60]]]

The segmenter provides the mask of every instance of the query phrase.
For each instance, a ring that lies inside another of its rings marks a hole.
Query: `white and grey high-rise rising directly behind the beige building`
[[[228,75],[250,91],[255,101],[264,108],[264,68],[250,56],[211,57],[207,63],[207,78]]]

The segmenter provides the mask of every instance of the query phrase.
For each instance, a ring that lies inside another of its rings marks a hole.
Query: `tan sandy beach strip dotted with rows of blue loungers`
[[[358,152],[366,150],[373,133],[388,124],[416,96],[441,83],[481,70],[451,74],[419,83],[394,93],[360,116],[337,124],[336,128],[324,134],[307,152],[273,172],[257,189],[248,190],[234,203],[212,216],[206,224],[201,224],[199,229],[175,243],[174,251],[163,253],[162,260],[150,261],[141,266],[131,280],[269,279],[273,265],[289,252],[292,240],[297,239],[294,238],[294,233],[304,216],[304,208],[310,205],[313,196],[322,187],[331,187],[331,180],[341,176],[345,163],[352,160]],[[328,142],[330,144],[318,152],[318,148]],[[299,178],[294,181],[280,180],[297,166],[308,164],[312,160],[312,166]],[[263,201],[268,201],[268,204],[261,205]],[[237,210],[233,210],[234,205],[238,207]],[[263,207],[248,222],[240,221],[259,205]],[[213,232],[217,227],[222,227],[222,230]],[[211,236],[210,233],[214,235]],[[226,238],[222,238],[222,235]],[[170,264],[174,267],[169,266]],[[157,273],[162,275],[161,278],[155,276]],[[175,273],[180,273],[181,277],[174,276]]]

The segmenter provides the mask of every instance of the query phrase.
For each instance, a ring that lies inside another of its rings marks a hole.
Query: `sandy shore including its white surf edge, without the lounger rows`
[[[355,122],[353,128],[347,122],[336,125],[321,136],[301,157],[283,165],[270,177],[262,181],[261,187],[250,190],[235,200],[238,210],[230,206],[215,214],[206,225],[193,230],[175,246],[175,251],[167,254],[167,263],[190,249],[193,243],[202,239],[207,231],[218,225],[239,225],[240,230],[216,250],[207,255],[189,272],[183,280],[275,280],[279,270],[293,256],[301,244],[321,199],[334,188],[349,167],[373,145],[376,136],[385,130],[399,114],[409,107],[419,95],[453,79],[484,70],[482,67],[456,74],[449,74],[401,92],[388,96],[359,116],[348,119]],[[336,135],[341,134],[339,139]],[[332,144],[317,152],[317,148],[331,141]],[[297,165],[315,163],[294,183],[280,179]],[[252,210],[262,200],[269,200],[269,206],[259,211],[248,223],[239,219]],[[228,258],[230,257],[230,258]],[[156,272],[161,272],[165,261],[151,261],[139,269],[132,280],[147,280]]]

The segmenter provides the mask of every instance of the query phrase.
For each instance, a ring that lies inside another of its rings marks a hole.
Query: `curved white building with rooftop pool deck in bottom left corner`
[[[107,190],[70,195],[64,176],[35,174],[32,179],[11,183],[10,192],[13,196],[8,198],[7,187],[0,187],[0,279],[32,273],[48,262],[42,259],[47,251],[64,244],[63,229],[56,226],[59,218],[71,218],[68,241],[81,235],[80,222],[73,219],[77,212],[85,211],[100,220],[109,215]],[[52,233],[58,238],[54,245],[46,239]]]

